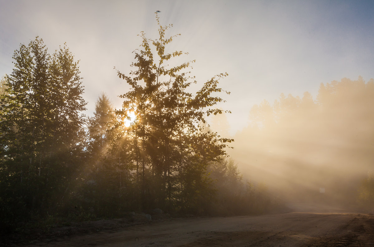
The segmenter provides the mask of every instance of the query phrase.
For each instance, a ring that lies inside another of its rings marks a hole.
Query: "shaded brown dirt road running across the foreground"
[[[374,246],[374,217],[293,212],[172,219],[33,246]]]

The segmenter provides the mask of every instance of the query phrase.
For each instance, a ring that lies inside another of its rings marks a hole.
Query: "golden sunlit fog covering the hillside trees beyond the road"
[[[229,153],[244,179],[265,183],[286,203],[356,207],[373,167],[373,96],[374,80],[359,77],[321,84],[316,96],[264,99]],[[212,128],[227,134],[227,117],[213,117]]]

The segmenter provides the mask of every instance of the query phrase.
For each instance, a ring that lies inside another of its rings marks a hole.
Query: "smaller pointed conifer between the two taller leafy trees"
[[[106,94],[99,96],[93,114],[87,119],[88,162],[81,198],[89,201],[96,215],[107,216],[109,212],[131,208],[131,200],[124,200],[132,197],[126,194],[132,192],[131,169],[127,166],[128,140],[121,128],[114,128],[116,115]]]

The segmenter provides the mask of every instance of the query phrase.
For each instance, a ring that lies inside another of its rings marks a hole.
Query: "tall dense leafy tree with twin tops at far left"
[[[77,160],[84,121],[80,112],[86,103],[78,62],[66,44],[51,56],[36,37],[28,46],[21,44],[13,59],[15,68],[1,96],[0,194],[14,217],[22,218],[67,191],[82,163]]]

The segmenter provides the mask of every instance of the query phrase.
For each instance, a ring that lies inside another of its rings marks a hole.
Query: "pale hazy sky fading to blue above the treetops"
[[[76,60],[91,116],[105,92],[118,109],[129,87],[126,74],[144,31],[157,38],[156,10],[168,35],[181,34],[169,51],[196,60],[196,90],[227,72],[220,86],[231,110],[230,133],[248,125],[249,110],[281,93],[314,99],[321,82],[374,77],[373,1],[57,1],[0,0],[0,76],[13,69],[21,43],[43,38],[53,53],[65,42]]]

